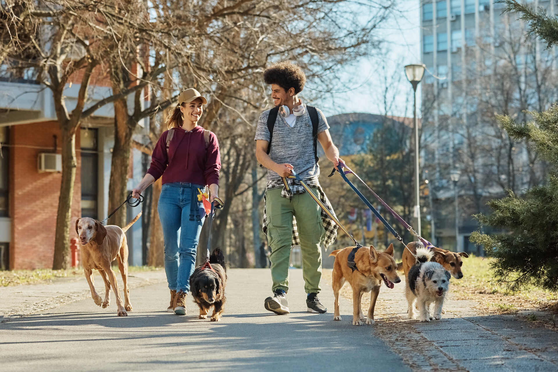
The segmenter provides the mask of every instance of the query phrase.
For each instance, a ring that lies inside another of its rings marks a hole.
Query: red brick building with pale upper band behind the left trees
[[[66,107],[73,109],[79,84],[64,91]],[[110,95],[110,88],[93,86],[90,103]],[[86,107],[88,106],[86,105]],[[112,104],[82,123],[76,134],[77,170],[72,220],[89,216],[102,220],[108,214],[110,153],[114,142]],[[146,131],[140,123],[141,131]],[[52,94],[32,80],[0,81],[0,269],[52,267],[61,173],[45,171],[61,162],[61,134]],[[40,160],[49,160],[42,166]],[[143,176],[142,154],[132,151],[128,187]],[[129,208],[129,207],[128,207]],[[129,208],[132,216],[141,210]],[[73,228],[70,236],[75,236]],[[127,232],[129,264],[141,265],[142,221]]]

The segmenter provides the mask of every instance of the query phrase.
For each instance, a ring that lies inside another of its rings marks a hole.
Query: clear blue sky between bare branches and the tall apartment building
[[[403,66],[421,62],[420,3],[419,0],[401,0],[397,9],[400,15],[386,23],[381,30],[381,35],[386,40],[387,54],[364,59],[347,67],[344,76],[341,76],[341,85],[347,85],[349,91],[334,93],[333,99],[331,96],[324,96],[316,102],[326,116],[349,112],[383,114],[383,105],[379,102],[383,97],[381,90],[384,85],[381,76],[401,74],[400,82],[393,84],[391,88],[392,94],[395,94],[395,103],[389,114],[412,117],[412,88],[405,77]],[[387,62],[385,72],[378,71],[382,60]],[[420,85],[417,89],[417,108],[420,107],[419,98]]]

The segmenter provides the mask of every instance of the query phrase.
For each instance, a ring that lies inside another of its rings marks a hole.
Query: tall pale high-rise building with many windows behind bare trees
[[[527,3],[555,14],[555,0]],[[558,99],[551,84],[556,52],[526,40],[526,25],[503,8],[493,0],[421,1],[422,176],[430,178],[435,235],[446,248],[475,252],[468,238],[478,225],[471,215],[487,212],[486,201],[504,189],[521,192],[544,174],[528,146],[509,141],[495,116],[525,121],[523,110]],[[455,170],[459,181],[452,182]]]

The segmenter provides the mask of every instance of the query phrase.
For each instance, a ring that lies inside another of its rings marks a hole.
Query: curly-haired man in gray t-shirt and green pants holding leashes
[[[271,85],[271,98],[275,104],[275,108],[260,115],[254,138],[256,158],[268,169],[263,231],[271,248],[274,296],[265,299],[264,307],[276,314],[289,312],[286,293],[291,245],[300,243],[307,310],[325,313],[327,309],[318,298],[321,244],[328,246],[333,243],[336,226],[296,180],[286,178],[287,190],[282,177],[291,175],[291,170],[294,170],[333,213],[318,182],[320,168],[316,157],[316,139],[334,166],[341,161],[339,150],[331,141],[324,114],[316,108],[306,107],[299,99],[306,82],[300,67],[280,62],[268,67],[263,78],[266,84]]]

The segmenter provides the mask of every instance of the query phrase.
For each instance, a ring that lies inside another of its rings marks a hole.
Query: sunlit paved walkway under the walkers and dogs
[[[163,312],[162,270],[133,273],[134,311],[116,317],[94,305],[84,278],[0,288],[3,370],[470,370],[556,371],[558,332],[514,316],[483,316],[472,301],[446,302],[442,321],[406,320],[403,285],[382,287],[376,324],[355,327],[352,301],[333,321],[329,280],[320,294],[329,312],[306,312],[301,270],[291,270],[291,314],[263,310],[268,269],[232,269],[221,322]],[[454,280],[454,279],[452,279]],[[103,282],[97,277],[98,292]],[[347,287],[345,287],[347,288]],[[348,291],[346,291],[348,292]],[[29,315],[34,313],[35,315]],[[25,316],[23,316],[25,315]]]

